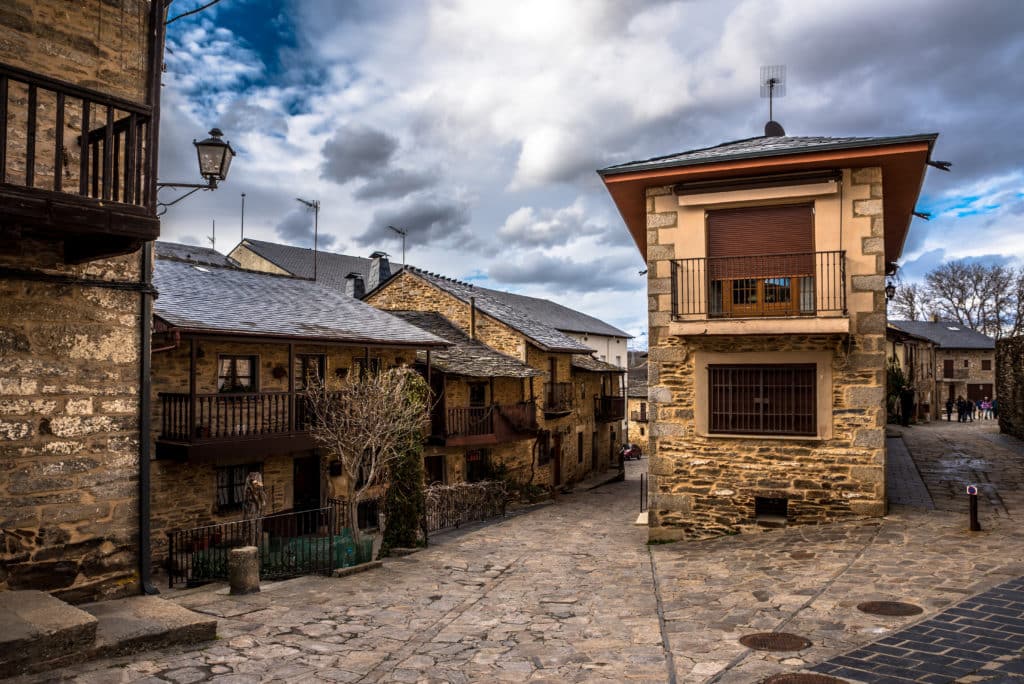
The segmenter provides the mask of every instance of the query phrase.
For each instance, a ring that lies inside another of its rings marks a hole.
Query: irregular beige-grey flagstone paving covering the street
[[[439,540],[378,570],[264,585],[248,597],[217,587],[179,593],[182,605],[222,618],[217,642],[23,681],[750,684],[856,658],[867,647],[902,648],[870,657],[924,662],[920,652],[935,644],[905,635],[983,619],[971,611],[999,614],[983,592],[1024,575],[1024,447],[985,424],[900,432],[935,510],[894,506],[884,519],[647,546],[646,530],[632,524],[644,459],[628,464],[626,482]],[[970,532],[963,480],[982,474],[983,530]],[[924,612],[872,615],[856,608],[864,601],[904,601]],[[939,643],[946,654],[977,636],[952,631],[961,636],[942,636],[953,645]],[[740,644],[757,632],[793,633],[811,645],[779,652]],[[1024,645],[1007,638],[1016,652],[987,651],[976,672],[935,679],[923,671],[909,681],[1016,681],[1009,678]],[[967,649],[984,651],[979,643]]]

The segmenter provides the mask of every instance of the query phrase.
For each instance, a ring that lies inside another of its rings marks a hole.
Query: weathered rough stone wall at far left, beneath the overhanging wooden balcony
[[[22,248],[0,265],[139,279],[139,254],[63,266]],[[136,591],[139,298],[0,280],[0,590]]]

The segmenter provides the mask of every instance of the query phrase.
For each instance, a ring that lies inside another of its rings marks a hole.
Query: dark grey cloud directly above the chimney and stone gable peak
[[[375,212],[373,221],[355,240],[373,246],[380,243],[382,236],[393,239],[394,233],[387,227],[393,225],[408,231],[408,247],[458,240],[460,247],[466,249],[473,244],[472,236],[466,229],[469,219],[469,206],[465,203],[424,200],[399,209]]]

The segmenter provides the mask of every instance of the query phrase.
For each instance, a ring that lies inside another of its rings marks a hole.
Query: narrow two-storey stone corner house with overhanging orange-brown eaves
[[[652,540],[885,513],[885,279],[936,137],[772,122],[599,172],[648,264]]]

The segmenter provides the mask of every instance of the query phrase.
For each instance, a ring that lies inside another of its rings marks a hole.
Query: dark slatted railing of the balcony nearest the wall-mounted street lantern
[[[0,184],[150,205],[151,108],[0,63]]]

